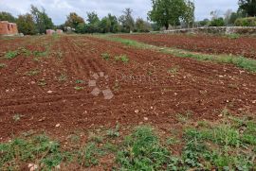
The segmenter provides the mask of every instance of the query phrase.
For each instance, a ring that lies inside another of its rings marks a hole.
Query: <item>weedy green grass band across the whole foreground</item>
[[[79,164],[81,169],[99,168],[95,166],[100,166],[102,157],[109,154],[114,156],[113,170],[256,169],[254,118],[229,114],[218,122],[199,122],[196,128],[191,122],[183,124],[183,130],[179,130],[183,131],[182,137],[168,138],[159,136],[150,126],[127,128],[125,135],[119,125],[100,128],[89,131],[85,143],[81,133],[68,136],[68,145],[72,146],[67,148],[46,135],[15,138],[0,144],[0,170],[20,170],[27,163],[39,165],[39,170],[54,170],[67,162]],[[172,154],[175,145],[183,146],[180,155]]]

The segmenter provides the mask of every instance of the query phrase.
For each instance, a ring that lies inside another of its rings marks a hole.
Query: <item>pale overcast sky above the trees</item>
[[[196,20],[210,18],[210,11],[220,9],[237,10],[238,0],[194,0]],[[108,13],[119,16],[125,8],[134,10],[134,17],[147,19],[151,9],[151,0],[0,0],[0,11],[8,11],[13,15],[25,14],[33,4],[44,7],[55,25],[63,24],[69,12],[77,12],[86,18],[87,11],[97,11],[100,17]]]

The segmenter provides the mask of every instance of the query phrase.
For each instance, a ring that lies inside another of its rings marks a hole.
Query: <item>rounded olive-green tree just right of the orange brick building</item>
[[[25,35],[36,34],[36,25],[31,14],[27,13],[25,15],[19,15],[16,23],[19,32]]]

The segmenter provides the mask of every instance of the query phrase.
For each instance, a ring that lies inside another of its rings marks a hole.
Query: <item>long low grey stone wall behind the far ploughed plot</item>
[[[163,33],[256,34],[256,26],[209,26],[164,30]]]

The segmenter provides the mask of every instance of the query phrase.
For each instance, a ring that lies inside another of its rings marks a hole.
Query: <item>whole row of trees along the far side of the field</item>
[[[97,12],[87,12],[86,21],[76,12],[67,15],[63,25],[54,26],[46,9],[38,9],[31,5],[30,11],[17,18],[9,12],[0,12],[0,21],[16,23],[19,32],[26,35],[44,34],[46,29],[63,29],[76,33],[118,33],[118,32],[148,32],[168,29],[170,26],[233,26],[235,21],[244,17],[255,17],[256,0],[239,0],[239,9],[235,12],[227,10],[221,15],[220,10],[210,12],[211,18],[195,22],[194,4],[191,0],[151,0],[152,9],[148,12],[148,21],[133,17],[132,9],[124,9],[122,15],[112,14],[100,19]]]

